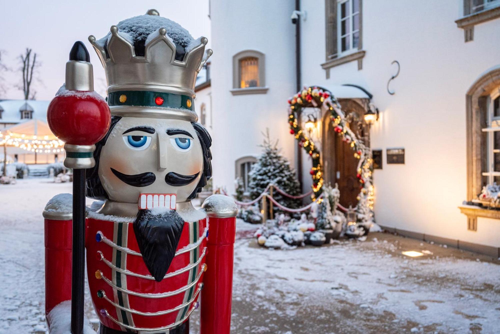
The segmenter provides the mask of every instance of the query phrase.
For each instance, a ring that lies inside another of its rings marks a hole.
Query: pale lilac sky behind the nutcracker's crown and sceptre
[[[32,83],[37,100],[50,100],[64,82],[69,50],[81,40],[90,53],[94,69],[94,87],[105,94],[105,76],[88,36],[103,37],[109,27],[125,18],[157,9],[161,16],[176,21],[194,38],[205,36],[210,45],[208,0],[0,0],[0,50],[2,62],[12,69],[2,72],[7,89],[0,99],[23,98],[15,85],[22,82],[17,70],[19,54],[26,47],[36,52],[40,66]]]

